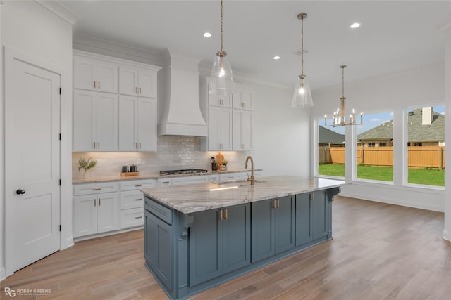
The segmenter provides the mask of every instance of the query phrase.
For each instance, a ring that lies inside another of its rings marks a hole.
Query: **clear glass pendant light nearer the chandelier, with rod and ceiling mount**
[[[304,74],[304,19],[307,18],[307,13],[299,13],[297,18],[301,20],[301,74],[297,77],[291,107],[311,107],[313,106],[313,99],[311,98],[310,85]]]

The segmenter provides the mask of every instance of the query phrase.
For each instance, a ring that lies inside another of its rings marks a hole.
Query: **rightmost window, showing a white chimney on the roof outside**
[[[445,186],[445,106],[407,111],[407,183]]]

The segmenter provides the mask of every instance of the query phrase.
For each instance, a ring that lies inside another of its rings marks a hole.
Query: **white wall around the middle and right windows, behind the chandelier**
[[[347,72],[352,72],[352,66],[348,66],[347,69]],[[364,113],[393,111],[395,152],[393,184],[352,181],[351,174],[347,172],[346,179],[352,182],[352,185],[343,187],[342,195],[443,211],[443,189],[403,186],[403,181],[405,181],[403,175],[405,172],[402,166],[405,159],[402,147],[404,132],[402,124],[398,120],[405,115],[404,109],[407,107],[445,104],[444,92],[445,67],[443,62],[404,72],[385,74],[381,77],[345,82],[347,107],[355,107],[357,112],[363,111]],[[316,117],[330,115],[330,112],[338,107],[340,96],[341,85],[314,91],[313,115]],[[349,109],[347,108],[347,110]],[[446,115],[446,123],[451,123],[450,114]],[[349,160],[353,161],[353,159]]]

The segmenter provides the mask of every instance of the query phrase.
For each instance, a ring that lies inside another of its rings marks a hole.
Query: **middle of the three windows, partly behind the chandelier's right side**
[[[357,178],[393,182],[393,112],[363,117],[356,126]]]

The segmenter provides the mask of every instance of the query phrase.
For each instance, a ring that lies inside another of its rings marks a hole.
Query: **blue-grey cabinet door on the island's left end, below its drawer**
[[[149,211],[144,213],[144,258],[159,280],[168,289],[173,289],[172,226],[161,221]]]

